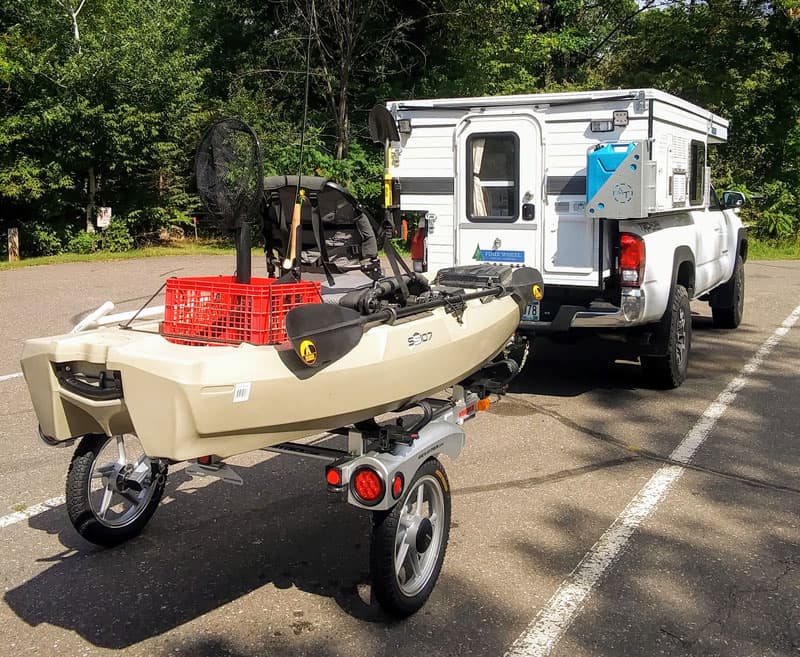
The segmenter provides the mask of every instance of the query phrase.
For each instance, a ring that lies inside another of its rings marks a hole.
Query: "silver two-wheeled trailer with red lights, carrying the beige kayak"
[[[106,304],[74,332],[125,321],[132,313],[104,316]],[[148,314],[158,312],[153,308]],[[505,364],[506,361],[500,361]],[[514,369],[513,361],[508,367]],[[498,362],[455,385],[446,398],[416,401],[383,421],[368,420],[326,431],[311,441],[278,443],[264,451],[326,462],[327,490],[372,512],[372,595],[390,615],[406,617],[430,596],[444,562],[450,531],[450,484],[439,460],[455,459],[464,446],[463,424],[499,392]],[[508,371],[507,368],[501,369]],[[486,376],[484,376],[485,374]],[[321,443],[334,442],[341,449]],[[75,441],[51,442],[60,447]],[[79,440],[67,475],[66,500],[75,529],[90,542],[113,546],[138,535],[158,507],[170,459],[148,457],[135,434],[89,434]],[[344,446],[346,443],[346,447]],[[187,474],[242,485],[222,459],[191,459]]]

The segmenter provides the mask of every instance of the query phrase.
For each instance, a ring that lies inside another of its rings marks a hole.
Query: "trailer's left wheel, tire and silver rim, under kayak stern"
[[[167,480],[167,464],[151,460],[133,434],[84,436],[67,474],[67,510],[87,541],[112,546],[144,529]]]

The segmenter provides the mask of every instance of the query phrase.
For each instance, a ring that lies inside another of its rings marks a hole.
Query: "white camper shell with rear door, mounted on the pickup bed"
[[[392,176],[401,211],[432,215],[428,270],[475,260],[526,264],[556,285],[597,287],[610,276],[612,220],[707,206],[708,146],[728,137],[725,119],[654,89],[388,107],[400,129]],[[590,215],[589,157],[614,144],[636,144],[646,158],[637,182],[647,203],[637,198],[627,216]]]

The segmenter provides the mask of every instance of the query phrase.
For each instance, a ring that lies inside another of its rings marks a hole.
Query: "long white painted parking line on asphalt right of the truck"
[[[694,454],[708,438],[711,430],[739,391],[747,384],[764,360],[789,330],[800,319],[800,306],[783,321],[775,332],[761,345],[755,355],[740,370],[720,395],[705,410],[670,458],[688,464]],[[592,546],[581,562],[561,583],[548,603],[536,615],[528,628],[514,641],[506,657],[544,657],[549,655],[564,633],[580,613],[583,604],[608,569],[625,551],[636,529],[653,513],[669,488],[685,469],[680,465],[660,468],[634,497],[624,511]]]

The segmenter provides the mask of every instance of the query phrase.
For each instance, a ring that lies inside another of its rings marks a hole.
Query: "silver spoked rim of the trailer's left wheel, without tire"
[[[147,509],[156,490],[153,464],[136,436],[113,436],[92,462],[89,507],[106,527],[125,527]]]

